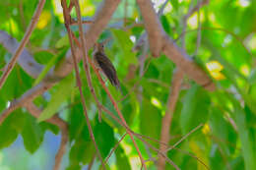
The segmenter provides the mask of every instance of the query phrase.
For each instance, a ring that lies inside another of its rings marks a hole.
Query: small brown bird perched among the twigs
[[[104,42],[95,44],[93,56],[97,68],[100,69],[112,85],[117,89],[120,89],[120,83],[117,78],[115,68],[104,53]]]

